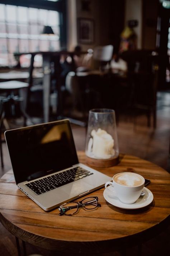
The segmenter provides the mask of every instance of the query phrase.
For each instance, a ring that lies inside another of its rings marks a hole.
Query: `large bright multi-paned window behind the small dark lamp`
[[[52,1],[52,0],[51,0]],[[41,35],[43,26],[55,35]],[[15,66],[15,52],[60,49],[59,13],[54,10],[0,4],[0,66]],[[29,65],[29,55],[22,66]]]

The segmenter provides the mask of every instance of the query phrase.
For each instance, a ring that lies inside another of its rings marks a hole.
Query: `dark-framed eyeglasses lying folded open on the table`
[[[84,207],[85,210],[94,210],[97,207],[101,207],[101,205],[98,202],[98,197],[87,197],[80,202],[64,203],[58,208],[60,211],[59,215],[74,215],[77,213],[79,207]]]

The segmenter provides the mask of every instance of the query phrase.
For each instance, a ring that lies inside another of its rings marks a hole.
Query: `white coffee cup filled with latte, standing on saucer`
[[[113,176],[113,182],[108,181],[105,184],[105,189],[112,192],[122,203],[131,204],[136,202],[140,197],[143,187],[145,184],[145,179],[133,172],[120,172]],[[108,185],[114,188],[110,190]]]

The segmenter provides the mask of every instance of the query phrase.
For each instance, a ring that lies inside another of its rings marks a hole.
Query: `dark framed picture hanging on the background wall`
[[[77,19],[77,36],[80,44],[92,44],[94,42],[94,20],[88,18]]]

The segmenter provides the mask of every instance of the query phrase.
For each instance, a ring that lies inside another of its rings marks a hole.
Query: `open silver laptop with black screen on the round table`
[[[5,139],[16,185],[45,211],[111,180],[79,163],[67,119],[8,130]]]

